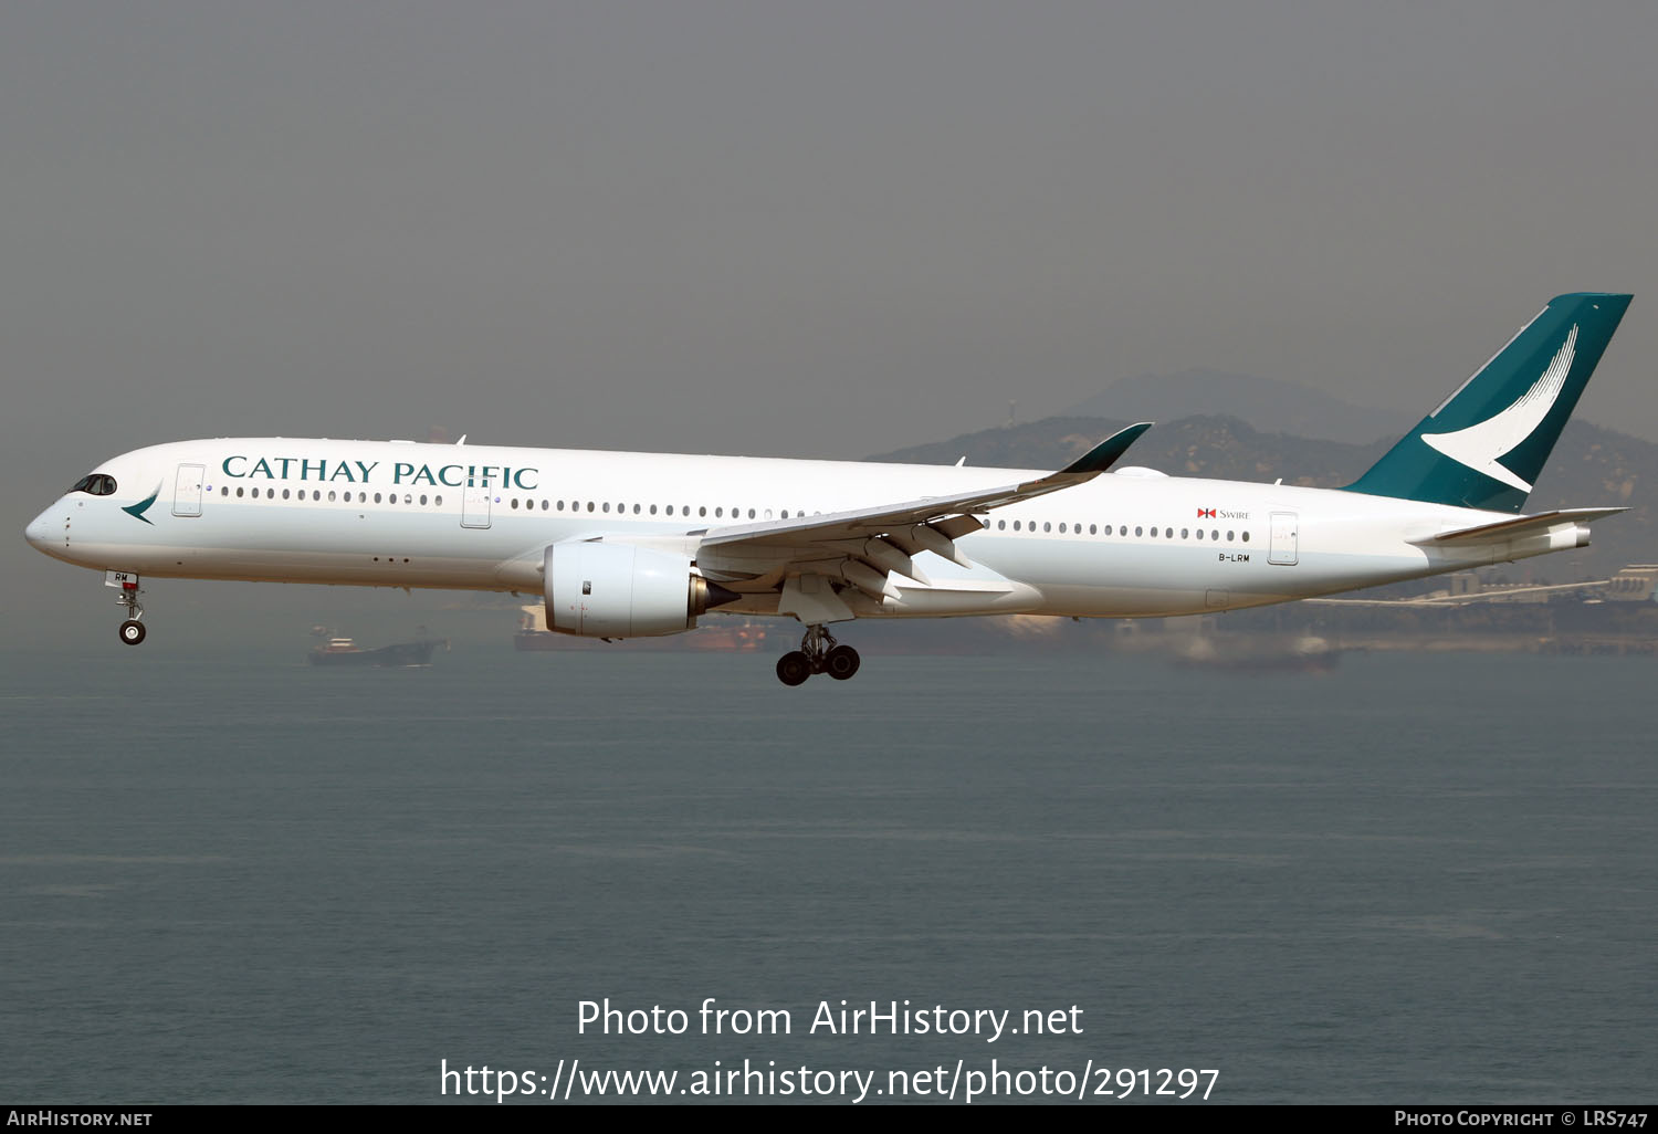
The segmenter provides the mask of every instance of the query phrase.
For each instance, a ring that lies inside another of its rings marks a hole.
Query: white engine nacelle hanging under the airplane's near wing
[[[686,555],[632,544],[552,544],[544,567],[547,628],[584,638],[683,633],[696,615],[738,598],[693,575]]]

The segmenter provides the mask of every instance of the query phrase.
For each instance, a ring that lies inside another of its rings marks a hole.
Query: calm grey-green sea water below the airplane
[[[1651,1093],[1650,662],[865,652],[789,690],[504,645],[0,657],[0,1096],[492,1104],[443,1074],[489,1066],[545,1101],[577,1059],[685,1101],[733,1068],[879,1074],[865,1104],[991,1068]]]

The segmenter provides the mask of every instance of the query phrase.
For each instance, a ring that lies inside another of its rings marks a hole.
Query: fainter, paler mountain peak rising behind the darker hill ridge
[[[1293,433],[1353,444],[1398,438],[1421,416],[1355,406],[1295,381],[1219,370],[1119,378],[1064,416],[1174,421],[1194,413],[1237,418],[1263,433]]]

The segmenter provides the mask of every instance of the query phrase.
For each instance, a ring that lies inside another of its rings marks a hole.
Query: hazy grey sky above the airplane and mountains
[[[141,444],[1426,411],[1578,288],[1635,292],[1583,416],[1658,439],[1653,58],[1645,0],[5,3],[3,607],[113,643],[22,529]]]

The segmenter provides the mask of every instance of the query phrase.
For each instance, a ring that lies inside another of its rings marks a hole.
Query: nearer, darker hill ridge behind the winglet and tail
[[[1048,418],[870,459],[955,464],[967,458],[972,466],[1058,469],[1126,424],[1129,421],[1124,418]],[[1142,464],[1169,476],[1268,484],[1283,477],[1285,484],[1340,487],[1356,481],[1406,428],[1409,426],[1370,444],[1348,444],[1258,433],[1237,418],[1187,416],[1147,433],[1129,449],[1122,464]],[[1587,421],[1568,421],[1527,501],[1527,511],[1598,506],[1630,511],[1595,524],[1595,542],[1588,549],[1522,560],[1515,570],[1530,570],[1555,582],[1575,582],[1585,577],[1605,579],[1631,562],[1658,562],[1655,494],[1658,444]]]

